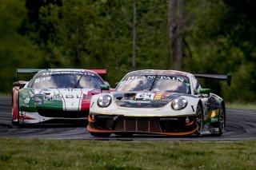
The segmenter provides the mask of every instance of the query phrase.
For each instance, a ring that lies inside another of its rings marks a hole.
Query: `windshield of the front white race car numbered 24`
[[[188,77],[179,75],[126,75],[115,89],[118,92],[155,91],[160,93],[190,93]]]

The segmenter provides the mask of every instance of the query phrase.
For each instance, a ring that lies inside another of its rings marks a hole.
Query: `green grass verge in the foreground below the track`
[[[254,169],[255,141],[0,138],[0,169]]]

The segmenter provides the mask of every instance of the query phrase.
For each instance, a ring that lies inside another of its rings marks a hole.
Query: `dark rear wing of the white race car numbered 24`
[[[231,85],[231,74],[212,74],[212,73],[194,73],[194,77],[204,78],[207,80],[214,79],[220,81],[226,81],[227,85]]]

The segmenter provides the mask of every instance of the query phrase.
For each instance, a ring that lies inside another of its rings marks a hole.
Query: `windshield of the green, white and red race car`
[[[98,75],[86,73],[56,73],[35,77],[35,89],[100,89],[103,85]]]

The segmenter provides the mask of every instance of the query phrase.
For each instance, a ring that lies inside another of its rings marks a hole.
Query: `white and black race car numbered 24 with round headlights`
[[[230,81],[230,75],[193,75],[174,70],[127,73],[114,92],[92,97],[87,129],[93,136],[221,136],[226,123],[225,103],[210,89],[202,89],[196,77]]]

